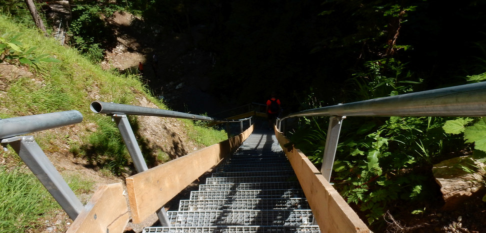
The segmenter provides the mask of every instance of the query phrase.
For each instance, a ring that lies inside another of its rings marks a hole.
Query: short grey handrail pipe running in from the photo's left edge
[[[0,139],[77,124],[82,114],[77,110],[12,117],[0,120]]]

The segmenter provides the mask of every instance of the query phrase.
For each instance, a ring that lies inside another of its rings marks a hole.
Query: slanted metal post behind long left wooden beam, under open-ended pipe
[[[145,159],[141,153],[140,147],[136,142],[135,134],[131,129],[130,122],[124,114],[113,114],[112,118],[115,120],[118,129],[120,130],[121,138],[125,143],[126,149],[130,154],[133,165],[138,173],[148,170]],[[157,212],[158,221],[162,227],[171,227],[167,212],[161,207]]]

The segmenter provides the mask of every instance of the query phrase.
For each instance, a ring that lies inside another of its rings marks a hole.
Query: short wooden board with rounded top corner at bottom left
[[[128,220],[128,206],[121,183],[103,185],[93,194],[66,233],[122,233]]]

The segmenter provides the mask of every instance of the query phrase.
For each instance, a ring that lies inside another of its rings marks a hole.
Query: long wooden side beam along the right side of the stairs
[[[278,143],[287,155],[298,182],[307,198],[321,232],[369,233],[368,227],[347,205],[315,166],[293,146],[284,147],[289,141],[276,128]]]

